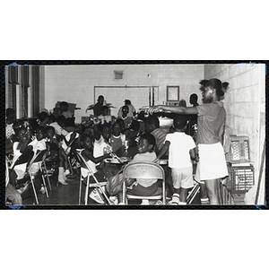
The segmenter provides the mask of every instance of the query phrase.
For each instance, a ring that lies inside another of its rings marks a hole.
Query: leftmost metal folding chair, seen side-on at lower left
[[[42,173],[42,163],[45,161],[46,157],[48,155],[48,151],[47,150],[44,150],[44,151],[41,151],[41,152],[38,152],[37,154],[35,154],[32,159],[30,160],[30,163],[26,169],[26,172],[29,174],[29,177],[30,177],[30,184],[31,184],[31,187],[32,187],[32,191],[33,191],[33,194],[35,196],[35,201],[37,204],[39,204],[39,199],[38,199],[38,195],[37,195],[37,192],[36,192],[36,188],[35,188],[35,185],[34,185],[34,181],[33,179],[36,178],[37,176],[41,176],[42,178],[42,182],[43,182],[43,186],[45,188],[45,192],[46,192],[46,195],[48,197],[48,189],[47,189],[47,186],[46,186],[46,180],[44,178],[44,175]],[[30,171],[32,165],[34,163],[39,163],[39,171],[37,173],[32,173]]]

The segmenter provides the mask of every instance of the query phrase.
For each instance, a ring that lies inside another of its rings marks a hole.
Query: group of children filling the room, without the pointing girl
[[[68,185],[68,175],[70,174],[68,166],[68,155],[75,152],[76,149],[82,150],[82,157],[87,161],[92,173],[100,182],[108,181],[108,169],[113,167],[101,166],[100,163],[110,157],[111,152],[117,152],[126,141],[130,145],[137,145],[137,154],[134,155],[134,161],[154,161],[159,162],[165,154],[169,156],[169,168],[171,169],[171,178],[166,178],[167,187],[170,183],[171,204],[186,204],[187,190],[194,186],[192,161],[196,158],[195,142],[192,137],[185,134],[187,126],[187,117],[174,117],[174,133],[168,134],[160,128],[159,119],[155,116],[149,116],[145,120],[135,120],[127,116],[128,106],[122,107],[118,118],[112,123],[111,117],[108,117],[108,109],[101,108],[102,115],[93,118],[91,127],[83,125],[66,126],[64,115],[55,118],[46,112],[39,115],[39,125],[21,126],[12,132],[9,129],[10,137],[13,137],[13,161],[11,169],[15,172],[15,178],[21,179],[25,175],[25,164],[16,166],[16,160],[27,152],[37,152],[48,150],[48,159],[56,159],[58,162],[58,182],[62,185]],[[10,124],[7,122],[7,124]],[[89,125],[88,125],[89,126]],[[32,166],[32,173],[39,170],[39,165]],[[122,169],[121,169],[122,170]],[[117,170],[119,182],[122,184],[122,175]],[[82,169],[82,176],[85,171]],[[166,176],[169,173],[166,172]],[[115,175],[114,175],[115,176]],[[113,178],[113,177],[112,177]],[[170,182],[169,182],[170,181]],[[158,191],[159,183],[157,180],[137,179],[135,182],[128,182],[128,192],[134,195],[153,195]],[[41,193],[44,193],[44,187],[40,184]],[[17,189],[19,193],[23,192],[23,187]],[[117,188],[117,192],[108,195],[117,196],[118,204],[123,204],[122,186]],[[91,199],[100,204],[104,204],[99,192],[94,189],[90,193]]]

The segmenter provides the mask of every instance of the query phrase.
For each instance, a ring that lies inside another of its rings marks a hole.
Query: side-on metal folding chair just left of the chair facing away
[[[85,177],[85,178],[87,178],[86,188],[85,188],[85,198],[84,198],[85,204],[88,204],[88,196],[89,196],[90,187],[96,187],[99,194],[103,195],[105,197],[105,199],[106,199],[105,202],[107,202],[107,204],[112,204],[111,201],[108,199],[108,195],[106,195],[105,191],[102,188],[102,187],[107,185],[107,182],[99,182],[98,179],[94,176],[91,168],[89,167],[89,165],[87,164],[87,162],[85,161],[85,159],[82,156],[82,150],[76,150],[76,157],[81,165],[81,176],[80,176],[80,187],[79,187],[79,205],[82,203],[82,182],[83,182],[82,169],[87,170],[87,176]],[[95,183],[90,183],[91,178],[94,179]]]

